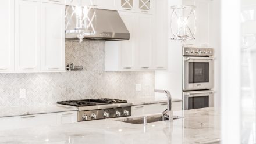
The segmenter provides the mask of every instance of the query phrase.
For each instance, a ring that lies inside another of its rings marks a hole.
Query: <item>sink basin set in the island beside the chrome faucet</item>
[[[183,117],[179,116],[173,116],[173,120],[177,120]],[[166,121],[167,119],[163,117],[162,115],[153,115],[153,116],[147,116],[147,123],[153,123],[157,121]],[[133,117],[133,118],[125,118],[121,120],[116,121],[122,121],[125,123],[131,123],[131,124],[143,124],[144,123],[144,117]]]

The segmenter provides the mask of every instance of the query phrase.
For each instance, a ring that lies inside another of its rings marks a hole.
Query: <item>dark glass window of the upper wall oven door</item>
[[[189,84],[209,82],[209,63],[189,62]]]

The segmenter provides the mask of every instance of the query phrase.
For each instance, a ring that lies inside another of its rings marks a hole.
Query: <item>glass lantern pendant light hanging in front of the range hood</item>
[[[66,33],[76,34],[80,42],[86,35],[94,35],[96,13],[92,7],[93,1],[66,0],[66,5]]]

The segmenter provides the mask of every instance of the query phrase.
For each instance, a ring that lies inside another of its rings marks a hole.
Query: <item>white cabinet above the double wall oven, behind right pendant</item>
[[[212,46],[212,0],[184,0],[185,5],[195,5],[197,17],[195,40],[187,41],[187,45]]]

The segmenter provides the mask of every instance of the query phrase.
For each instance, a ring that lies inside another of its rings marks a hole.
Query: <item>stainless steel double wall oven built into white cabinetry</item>
[[[183,109],[214,106],[214,49],[183,48]]]

